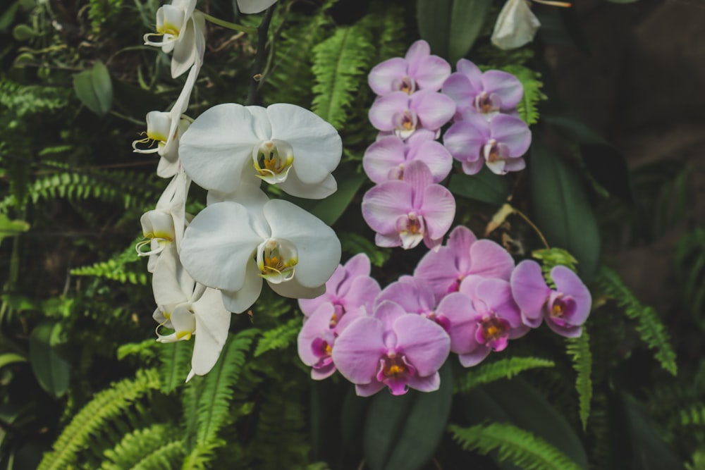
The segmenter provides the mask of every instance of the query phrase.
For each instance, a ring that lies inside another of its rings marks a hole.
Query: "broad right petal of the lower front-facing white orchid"
[[[273,238],[292,242],[298,250],[295,279],[305,287],[329,280],[341,261],[341,242],[319,218],[282,199],[264,205],[264,217]]]

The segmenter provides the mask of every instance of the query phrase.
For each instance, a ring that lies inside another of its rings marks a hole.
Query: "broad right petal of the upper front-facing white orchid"
[[[311,111],[295,104],[272,104],[267,109],[271,138],[294,150],[294,163],[304,183],[319,183],[335,170],[343,154],[338,131]]]

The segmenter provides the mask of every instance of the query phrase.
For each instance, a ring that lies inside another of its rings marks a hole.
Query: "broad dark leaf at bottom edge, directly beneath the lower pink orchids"
[[[450,366],[441,368],[441,388],[409,390],[394,396],[381,390],[364,423],[364,457],[372,470],[418,470],[433,457],[446,428],[453,383]]]

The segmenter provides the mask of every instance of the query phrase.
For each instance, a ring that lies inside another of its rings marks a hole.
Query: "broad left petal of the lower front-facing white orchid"
[[[192,278],[215,289],[240,290],[248,261],[262,242],[242,204],[219,202],[203,209],[186,229],[181,262]]]

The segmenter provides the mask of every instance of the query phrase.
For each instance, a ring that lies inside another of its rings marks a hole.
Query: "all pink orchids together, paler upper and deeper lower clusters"
[[[580,335],[591,296],[569,268],[553,267],[549,287],[536,261],[515,266],[501,245],[462,225],[441,246],[455,216],[455,199],[441,185],[453,159],[470,175],[484,165],[500,175],[525,168],[531,132],[516,109],[519,80],[482,73],[466,59],[451,74],[417,41],[404,58],[374,67],[369,85],[378,95],[369,120],[380,133],[362,161],[376,183],[364,194],[362,215],[376,245],[410,249],[423,240],[430,251],[413,276],[384,290],[359,254],[338,266],[325,295],[299,301],[298,352],[312,378],[338,370],[362,396],[385,387],[393,395],[430,392],[450,352],[475,366],[544,319],[559,335]]]

